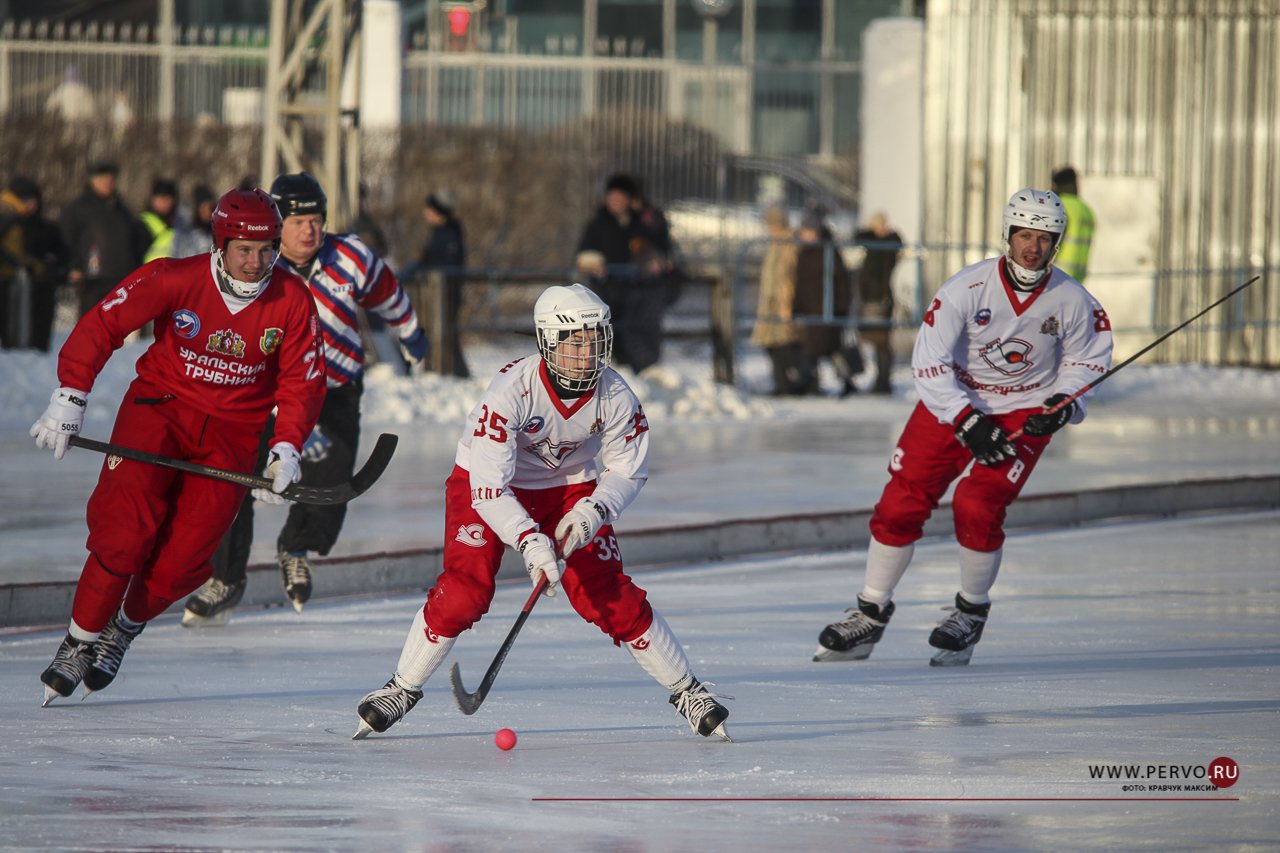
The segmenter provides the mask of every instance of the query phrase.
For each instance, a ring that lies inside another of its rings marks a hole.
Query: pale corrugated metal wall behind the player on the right
[[[1266,274],[1155,357],[1280,366],[1275,0],[931,0],[927,20],[924,241],[954,246],[934,287],[982,256],[1010,192],[1071,164],[1108,205],[1094,246],[1117,259],[1089,283],[1124,325],[1172,328]]]

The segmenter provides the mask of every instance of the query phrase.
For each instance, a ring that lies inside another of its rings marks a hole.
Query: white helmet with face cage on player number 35
[[[609,306],[582,284],[556,284],[543,291],[534,305],[534,330],[547,371],[566,391],[590,391],[609,366],[613,355]],[[581,334],[571,341],[575,333]],[[562,346],[566,342],[568,346]]]

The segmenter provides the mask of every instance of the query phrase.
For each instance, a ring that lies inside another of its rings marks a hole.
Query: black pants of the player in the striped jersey
[[[323,460],[316,462],[302,460],[303,483],[337,485],[351,479],[356,470],[356,447],[360,443],[361,393],[364,393],[364,384],[358,380],[338,388],[329,388],[316,425],[329,437],[333,446]],[[274,432],[275,419],[273,418],[266,423],[262,442],[259,444],[259,471],[266,465],[266,456],[270,452],[269,442]],[[342,533],[342,523],[346,517],[346,503],[332,506],[294,503],[289,507],[289,516],[284,521],[284,528],[280,529],[275,547],[278,551],[314,551],[324,556],[338,542],[338,534]],[[232,529],[223,537],[218,551],[214,552],[211,558],[214,576],[228,584],[242,583],[252,544],[253,494],[250,493],[244,496],[244,502],[241,505],[239,515],[236,516]]]

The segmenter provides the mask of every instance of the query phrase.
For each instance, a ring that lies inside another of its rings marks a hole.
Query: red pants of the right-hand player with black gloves
[[[1042,410],[1025,409],[988,418],[1011,433],[1038,411]],[[1023,491],[1048,441],[1048,437],[1024,435],[1014,442],[1018,459],[996,466],[974,464],[956,484],[951,511],[956,540],[961,546],[972,551],[996,551],[1005,543],[1005,512]],[[891,479],[872,515],[872,535],[896,547],[919,539],[947,487],[972,460],[969,448],[955,437],[955,428],[940,424],[924,403],[916,403],[893,448],[888,465]]]

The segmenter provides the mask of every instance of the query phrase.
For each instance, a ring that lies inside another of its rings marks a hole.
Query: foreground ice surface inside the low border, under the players
[[[115,684],[49,708],[37,676],[61,631],[0,637],[0,849],[1275,849],[1277,523],[1015,534],[954,670],[927,665],[957,583],[946,540],[918,547],[861,663],[810,656],[863,553],[640,573],[698,675],[735,697],[731,744],[692,735],[562,598],[532,611],[475,716],[445,665],[364,742],[356,702],[389,676],[419,596],[221,630],[161,619]],[[499,588],[458,640],[468,688],[526,596]],[[1198,777],[1219,757],[1238,763],[1230,788]],[[1184,783],[1171,772],[1210,790],[1156,790]]]

